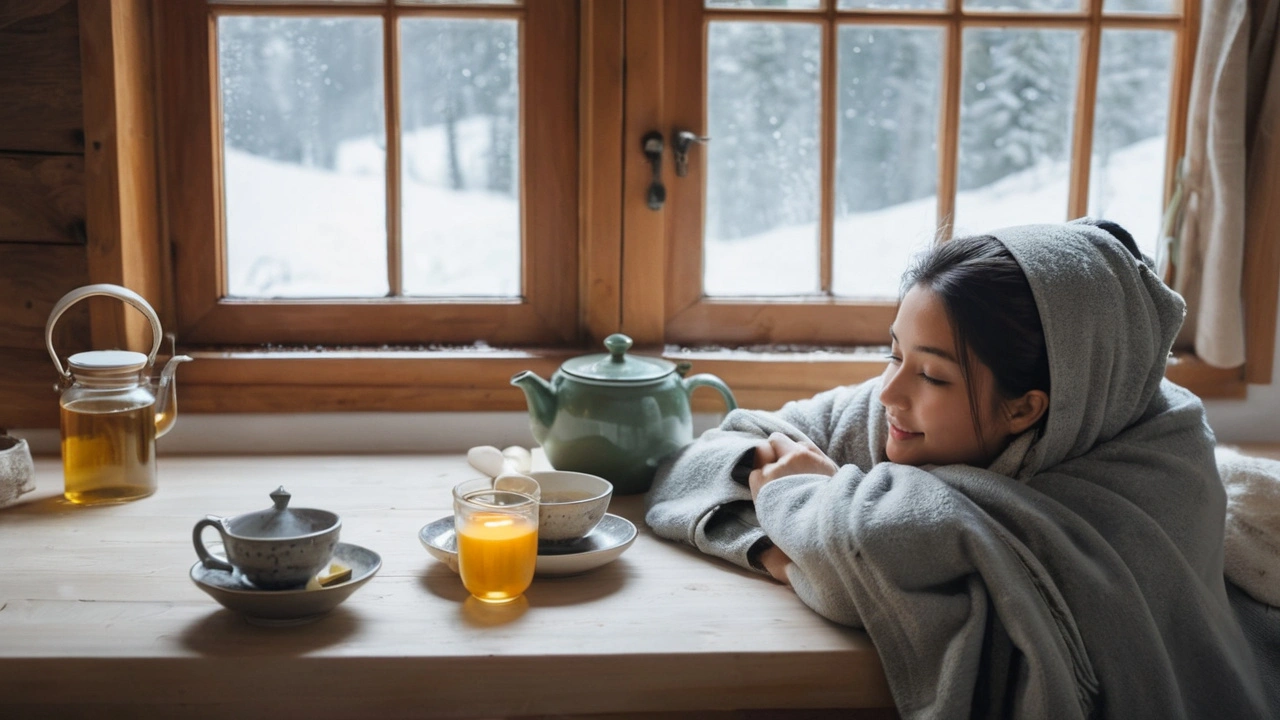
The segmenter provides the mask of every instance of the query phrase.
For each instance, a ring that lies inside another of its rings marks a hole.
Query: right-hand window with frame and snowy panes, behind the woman
[[[676,343],[883,343],[936,241],[1094,214],[1157,251],[1190,44],[1160,0],[666,4]],[[695,241],[696,238],[696,241]]]

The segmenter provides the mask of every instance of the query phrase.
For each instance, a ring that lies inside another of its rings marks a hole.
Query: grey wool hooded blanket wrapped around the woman
[[[865,628],[902,717],[1280,715],[1228,598],[1212,432],[1164,379],[1181,299],[1088,222],[993,234],[1044,325],[1042,432],[991,468],[897,465],[869,380],[731,413],[659,468],[645,520],[745,568],[765,537],[782,548],[805,605]],[[772,432],[840,470],[753,506],[745,471]]]

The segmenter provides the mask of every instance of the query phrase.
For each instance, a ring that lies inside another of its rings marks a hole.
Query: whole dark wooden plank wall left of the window
[[[0,0],[0,428],[58,427],[45,320],[90,282],[76,0]],[[88,307],[63,316],[65,359],[88,347]]]

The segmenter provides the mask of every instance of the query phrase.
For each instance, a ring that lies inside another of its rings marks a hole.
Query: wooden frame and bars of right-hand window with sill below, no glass
[[[815,10],[788,9],[703,9],[701,3],[663,0],[635,3],[626,10],[627,42],[627,124],[623,147],[639,147],[641,136],[650,129],[675,135],[678,129],[705,133],[705,108],[701,101],[691,104],[689,97],[705,97],[705,56],[701,51],[707,23],[710,19],[767,19],[814,22],[826,24],[826,61],[823,81],[820,128],[824,146],[835,147],[835,97],[832,76],[836,45],[832,41],[837,23],[860,22],[881,26],[943,27],[947,36],[943,96],[941,102],[943,141],[940,143],[938,225],[950,232],[946,222],[954,211],[956,191],[956,159],[959,138],[959,109],[965,27],[1061,27],[1079,29],[1082,72],[1078,76],[1076,108],[1073,128],[1073,163],[1069,217],[1087,213],[1089,151],[1092,150],[1093,102],[1097,87],[1098,56],[1102,31],[1107,28],[1149,28],[1178,31],[1175,36],[1175,63],[1170,86],[1170,114],[1166,158],[1180,156],[1187,132],[1187,106],[1194,61],[1194,45],[1199,28],[1198,0],[1184,0],[1172,14],[1103,13],[1103,0],[1083,0],[1076,13],[1015,13],[965,10],[961,0],[948,0],[946,10],[893,12],[893,10],[836,10],[835,3]],[[675,40],[672,40],[675,38]],[[692,53],[691,49],[698,49]],[[635,95],[641,95],[636,100]],[[637,108],[632,111],[632,108]],[[655,346],[699,346],[705,343],[810,343],[810,345],[883,345],[884,328],[895,314],[892,302],[855,302],[833,297],[813,300],[769,299],[750,301],[740,299],[708,299],[701,293],[701,243],[690,238],[703,237],[703,204],[681,202],[680,188],[701,192],[705,173],[704,154],[695,152],[689,164],[689,176],[676,178],[664,173],[668,186],[668,210],[648,213],[644,191],[650,169],[639,152],[626,152],[625,214],[627,215],[628,256],[662,258],[662,274],[653,268],[623,263],[623,287],[634,288],[622,297],[622,327],[640,342]],[[833,217],[832,152],[823,158],[822,278],[824,287],[831,282],[831,234]],[[1165,197],[1175,184],[1174,163],[1166,161]],[[676,183],[675,186],[672,183]],[[672,188],[676,188],[675,192]],[[659,217],[663,215],[663,217]],[[1272,343],[1276,332],[1275,299],[1280,272],[1280,243],[1265,242],[1254,233],[1247,247],[1245,306],[1249,328],[1248,361],[1243,368],[1220,369],[1204,364],[1188,351],[1178,351],[1171,357],[1167,375],[1174,382],[1189,387],[1202,397],[1242,398],[1247,383],[1271,380]],[[699,361],[699,368],[717,372],[737,391],[742,388],[748,398],[758,398],[755,405],[776,407],[792,397],[812,395],[837,383],[860,382],[883,370],[883,361],[874,357],[833,359],[827,352],[797,354],[795,359],[763,359],[750,352],[678,354],[686,360]],[[787,379],[783,379],[787,378]],[[753,405],[751,400],[745,402]],[[704,407],[714,407],[705,402]]]

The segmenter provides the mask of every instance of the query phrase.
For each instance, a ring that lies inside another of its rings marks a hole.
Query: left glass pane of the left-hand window
[[[387,295],[381,42],[379,18],[219,18],[228,295]]]

